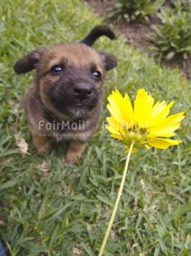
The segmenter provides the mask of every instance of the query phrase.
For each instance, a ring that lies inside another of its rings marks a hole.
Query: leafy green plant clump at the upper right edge
[[[183,6],[176,2],[175,8],[163,8],[158,13],[161,26],[152,26],[154,31],[148,35],[151,42],[156,45],[152,50],[156,55],[166,59],[187,59],[191,54],[191,3],[183,11]]]

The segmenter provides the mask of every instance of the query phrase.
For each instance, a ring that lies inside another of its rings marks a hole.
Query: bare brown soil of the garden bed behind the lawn
[[[147,52],[148,55],[153,56],[153,52],[149,49],[149,46],[153,45],[148,39],[148,34],[153,31],[152,26],[161,25],[160,19],[156,15],[149,16],[148,21],[133,21],[127,23],[127,21],[116,21],[109,19],[109,11],[114,7],[113,1],[100,1],[100,0],[84,0],[89,4],[91,9],[95,12],[95,15],[105,17],[105,25],[112,24],[115,31],[118,31],[119,35],[122,34],[127,39],[127,43],[134,45],[137,49]],[[157,61],[157,60],[156,60]],[[173,60],[162,59],[161,66],[169,69],[179,68],[184,78],[191,78],[191,58],[182,59],[177,58]]]

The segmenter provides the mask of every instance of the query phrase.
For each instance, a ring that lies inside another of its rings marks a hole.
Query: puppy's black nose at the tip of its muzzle
[[[73,87],[73,93],[78,99],[85,100],[91,96],[91,86],[86,83],[76,83]]]

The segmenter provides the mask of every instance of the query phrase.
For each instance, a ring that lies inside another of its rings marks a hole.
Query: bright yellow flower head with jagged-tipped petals
[[[184,119],[184,112],[168,116],[174,102],[154,104],[154,98],[144,88],[137,91],[133,106],[128,94],[122,97],[117,89],[109,95],[108,101],[111,116],[107,118],[109,126],[106,129],[115,139],[123,140],[127,152],[133,141],[134,152],[142,146],[167,149],[182,142],[167,139],[175,135],[174,131]]]

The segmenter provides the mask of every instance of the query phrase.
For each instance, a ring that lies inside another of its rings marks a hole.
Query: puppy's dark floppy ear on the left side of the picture
[[[22,59],[19,59],[15,66],[16,73],[26,73],[32,69],[36,68],[36,64],[40,61],[40,56],[42,55],[44,49],[34,50],[30,54],[24,56]]]

